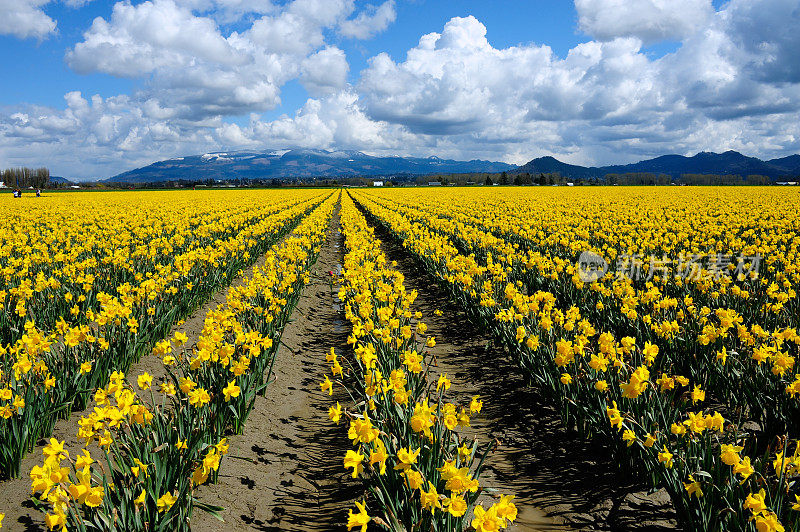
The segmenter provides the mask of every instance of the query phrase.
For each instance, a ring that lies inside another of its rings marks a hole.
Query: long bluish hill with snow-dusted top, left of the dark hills
[[[510,171],[514,165],[454,161],[438,157],[373,157],[359,151],[276,150],[219,152],[178,157],[123,172],[110,182],[173,180],[285,179],[308,177],[424,175]]]

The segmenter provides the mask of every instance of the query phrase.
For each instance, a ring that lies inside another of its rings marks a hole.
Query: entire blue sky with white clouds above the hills
[[[0,167],[800,152],[794,0],[0,0]],[[769,30],[767,28],[781,28]]]

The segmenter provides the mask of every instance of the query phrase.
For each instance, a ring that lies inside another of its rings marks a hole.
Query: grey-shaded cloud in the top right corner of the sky
[[[769,19],[775,30],[767,34],[753,18]],[[800,39],[779,29],[792,22],[800,23],[800,7],[783,0],[731,1],[704,31],[658,61],[670,99],[713,120],[796,113],[800,67],[789,57],[800,52]]]

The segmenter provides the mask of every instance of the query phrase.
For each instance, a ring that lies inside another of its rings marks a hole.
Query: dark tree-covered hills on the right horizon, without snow
[[[611,166],[577,166],[562,163],[553,157],[539,157],[516,170],[530,174],[555,173],[571,179],[602,178],[606,174],[647,172],[680,177],[682,174],[764,175],[773,180],[800,175],[800,155],[762,161],[736,151],[724,153],[700,152],[693,157],[662,155],[638,163]]]

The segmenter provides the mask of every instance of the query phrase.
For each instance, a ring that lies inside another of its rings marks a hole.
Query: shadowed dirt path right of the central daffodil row
[[[473,429],[484,442],[494,438],[500,445],[487,459],[481,483],[515,495],[515,529],[675,530],[666,494],[648,495],[641,483],[620,475],[605,449],[570,434],[557,411],[525,385],[513,360],[388,231],[374,227],[406,287],[419,292],[415,306],[428,334],[436,336],[437,369],[448,374],[462,401],[474,394],[483,399]]]

